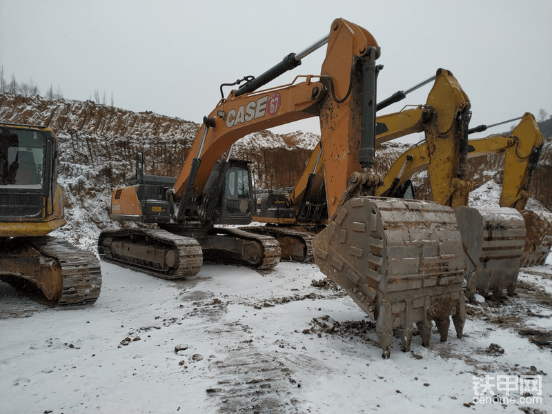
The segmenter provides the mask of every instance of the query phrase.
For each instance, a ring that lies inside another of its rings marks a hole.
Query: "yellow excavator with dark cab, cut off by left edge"
[[[50,128],[0,122],[0,278],[49,306],[93,304],[97,257],[48,236],[66,224]]]

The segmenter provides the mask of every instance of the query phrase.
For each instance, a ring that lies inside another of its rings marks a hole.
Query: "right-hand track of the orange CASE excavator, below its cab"
[[[250,266],[259,270],[273,268],[280,261],[282,250],[280,250],[279,243],[274,237],[248,233],[239,228],[217,227],[215,231],[219,235],[224,235],[225,239],[237,239],[243,243],[244,248],[241,254],[236,254],[230,250],[227,252],[224,249],[216,249],[213,252],[204,249],[206,259],[225,264]]]

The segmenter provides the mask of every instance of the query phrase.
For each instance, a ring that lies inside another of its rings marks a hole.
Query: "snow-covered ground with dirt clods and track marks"
[[[522,270],[504,303],[468,304],[462,339],[451,324],[447,342],[435,330],[430,346],[415,336],[402,353],[395,337],[391,359],[350,297],[311,284],[324,279],[315,264],[206,263],[171,282],[101,262],[99,300],[76,309],[0,282],[0,412],[545,413],[551,262]],[[474,375],[540,375],[542,393],[517,386],[506,404],[473,404]]]

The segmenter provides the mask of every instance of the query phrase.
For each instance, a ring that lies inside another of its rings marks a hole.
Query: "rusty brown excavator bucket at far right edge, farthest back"
[[[546,211],[523,210],[525,248],[521,265],[542,266],[552,248],[552,214]]]

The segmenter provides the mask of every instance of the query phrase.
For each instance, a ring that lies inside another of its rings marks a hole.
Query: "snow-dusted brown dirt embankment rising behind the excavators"
[[[136,153],[144,152],[146,174],[174,177],[188,157],[199,130],[199,124],[194,122],[149,111],[132,112],[92,101],[49,101],[9,94],[0,94],[0,120],[49,126],[56,132],[60,183],[68,193],[67,206],[77,204],[100,229],[109,223],[106,208],[112,190],[135,173]],[[311,133],[275,135],[262,130],[239,139],[233,158],[253,162],[257,187],[293,186],[318,140]],[[396,142],[378,148],[375,171],[384,174],[406,148]],[[469,177],[476,187],[502,169],[503,158],[499,153],[469,160]],[[431,199],[426,172],[418,173],[414,182],[419,187],[418,198]],[[552,210],[550,139],[545,141],[531,193]]]

